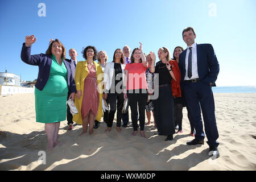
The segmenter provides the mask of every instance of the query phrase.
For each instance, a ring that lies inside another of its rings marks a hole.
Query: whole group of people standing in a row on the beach
[[[26,36],[21,59],[30,65],[38,65],[35,85],[36,122],[45,123],[48,150],[60,145],[58,140],[60,121],[67,115],[68,130],[73,121],[82,125],[83,135],[89,125],[89,134],[97,129],[103,115],[106,131],[112,129],[117,112],[117,131],[129,123],[129,111],[122,113],[125,100],[129,100],[133,135],[138,127],[144,133],[145,109],[150,124],[151,111],[157,135],[172,140],[175,133],[183,133],[183,107],[187,107],[191,135],[195,139],[188,145],[204,144],[208,138],[209,156],[219,156],[218,131],[214,113],[212,86],[215,86],[219,65],[211,44],[195,43],[192,27],[184,28],[183,40],[188,48],[175,47],[172,58],[166,47],[158,50],[159,61],[154,52],[143,53],[142,43],[133,51],[129,46],[114,51],[108,61],[106,51],[97,52],[94,46],[82,51],[85,61],[77,61],[77,51],[69,49],[71,59],[65,58],[65,47],[58,39],[51,39],[46,53],[31,55],[34,35]],[[96,62],[96,60],[98,60]],[[72,113],[67,100],[75,101],[78,113]],[[102,102],[109,110],[102,109]],[[139,121],[139,125],[138,125]],[[175,128],[177,132],[175,132]]]

